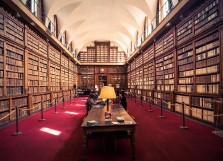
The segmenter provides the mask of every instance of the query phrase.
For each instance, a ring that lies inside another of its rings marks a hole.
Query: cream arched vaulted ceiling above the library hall
[[[143,31],[144,19],[155,17],[157,0],[45,0],[45,13],[58,19],[73,48],[83,50],[93,41],[111,41],[123,51]]]

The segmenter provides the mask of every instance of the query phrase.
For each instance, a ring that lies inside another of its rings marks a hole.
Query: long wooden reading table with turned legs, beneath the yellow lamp
[[[119,105],[113,105],[109,107],[112,114],[112,121],[105,122],[105,112],[106,106],[93,106],[89,111],[87,117],[82,123],[83,128],[83,159],[86,160],[87,156],[87,144],[88,144],[88,134],[94,132],[116,132],[116,131],[128,131],[130,134],[130,142],[132,146],[133,160],[135,160],[135,126],[136,122],[130,117],[130,115]],[[123,117],[124,123],[118,123],[117,117]],[[88,121],[95,120],[98,124],[89,125]],[[118,124],[117,124],[118,123]]]

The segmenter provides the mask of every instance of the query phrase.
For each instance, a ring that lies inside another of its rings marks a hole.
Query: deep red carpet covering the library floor
[[[46,121],[39,122],[36,114],[19,122],[20,136],[12,136],[15,124],[0,129],[1,161],[80,161],[82,159],[81,123],[86,115],[86,98],[76,104],[68,101],[65,109],[59,105],[58,114],[51,108],[44,112]],[[137,122],[136,161],[222,161],[223,138],[212,133],[214,128],[186,120],[189,129],[180,129],[182,118],[148,105],[143,108],[128,100],[128,111]],[[82,106],[81,106],[82,105]],[[73,112],[65,113],[65,112]],[[60,131],[56,136],[40,131],[46,127]],[[116,152],[104,152],[101,139],[89,141],[88,161],[129,161],[131,147],[128,139],[117,142]]]

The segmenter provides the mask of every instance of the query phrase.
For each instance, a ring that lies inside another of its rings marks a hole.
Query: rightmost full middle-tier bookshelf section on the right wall
[[[218,94],[220,85],[219,33],[195,41],[196,92]]]

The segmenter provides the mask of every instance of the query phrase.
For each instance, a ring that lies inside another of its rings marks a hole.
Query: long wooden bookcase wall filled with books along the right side
[[[163,107],[178,113],[183,112],[184,102],[186,115],[222,127],[223,122],[213,116],[222,113],[222,104],[216,103],[223,94],[222,6],[219,0],[206,0],[156,35],[157,40],[129,62],[128,90],[139,93],[143,69],[145,101],[150,96],[160,106],[162,99]]]

